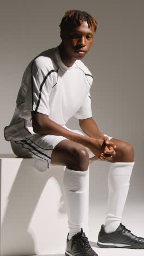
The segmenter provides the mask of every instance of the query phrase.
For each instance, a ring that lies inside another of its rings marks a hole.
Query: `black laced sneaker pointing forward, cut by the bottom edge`
[[[69,234],[68,234],[69,236]],[[67,247],[65,250],[66,256],[98,256],[89,245],[88,238],[81,229],[81,232],[72,236],[69,240],[67,237]]]

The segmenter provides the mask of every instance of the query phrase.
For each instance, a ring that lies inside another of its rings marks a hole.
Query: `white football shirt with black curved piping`
[[[20,140],[32,129],[31,112],[49,115],[59,125],[71,117],[92,117],[92,74],[82,61],[67,67],[61,60],[58,47],[44,51],[27,66],[16,100],[14,116],[5,127],[7,141]]]

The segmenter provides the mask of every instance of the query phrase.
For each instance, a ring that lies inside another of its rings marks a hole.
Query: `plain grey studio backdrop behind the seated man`
[[[1,1],[1,152],[12,153],[3,137],[14,113],[22,74],[36,55],[57,46],[59,23],[68,9],[81,9],[99,21],[83,60],[91,70],[93,118],[101,132],[131,143],[135,167],[128,202],[143,195],[143,8],[140,0]],[[68,123],[78,127],[76,119]],[[106,202],[109,163],[91,167],[90,202]],[[101,196],[99,196],[101,193]]]

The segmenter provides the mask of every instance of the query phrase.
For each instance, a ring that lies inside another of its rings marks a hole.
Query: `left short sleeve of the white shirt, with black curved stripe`
[[[35,59],[23,78],[23,84],[27,84],[26,101],[22,116],[29,112],[39,112],[49,115],[49,98],[52,84],[55,82],[55,69],[46,65],[43,59]]]

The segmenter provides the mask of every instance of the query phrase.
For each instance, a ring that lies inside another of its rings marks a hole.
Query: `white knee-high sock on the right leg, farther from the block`
[[[107,233],[115,231],[121,223],[133,166],[134,162],[115,162],[110,165],[108,209],[105,219]]]

